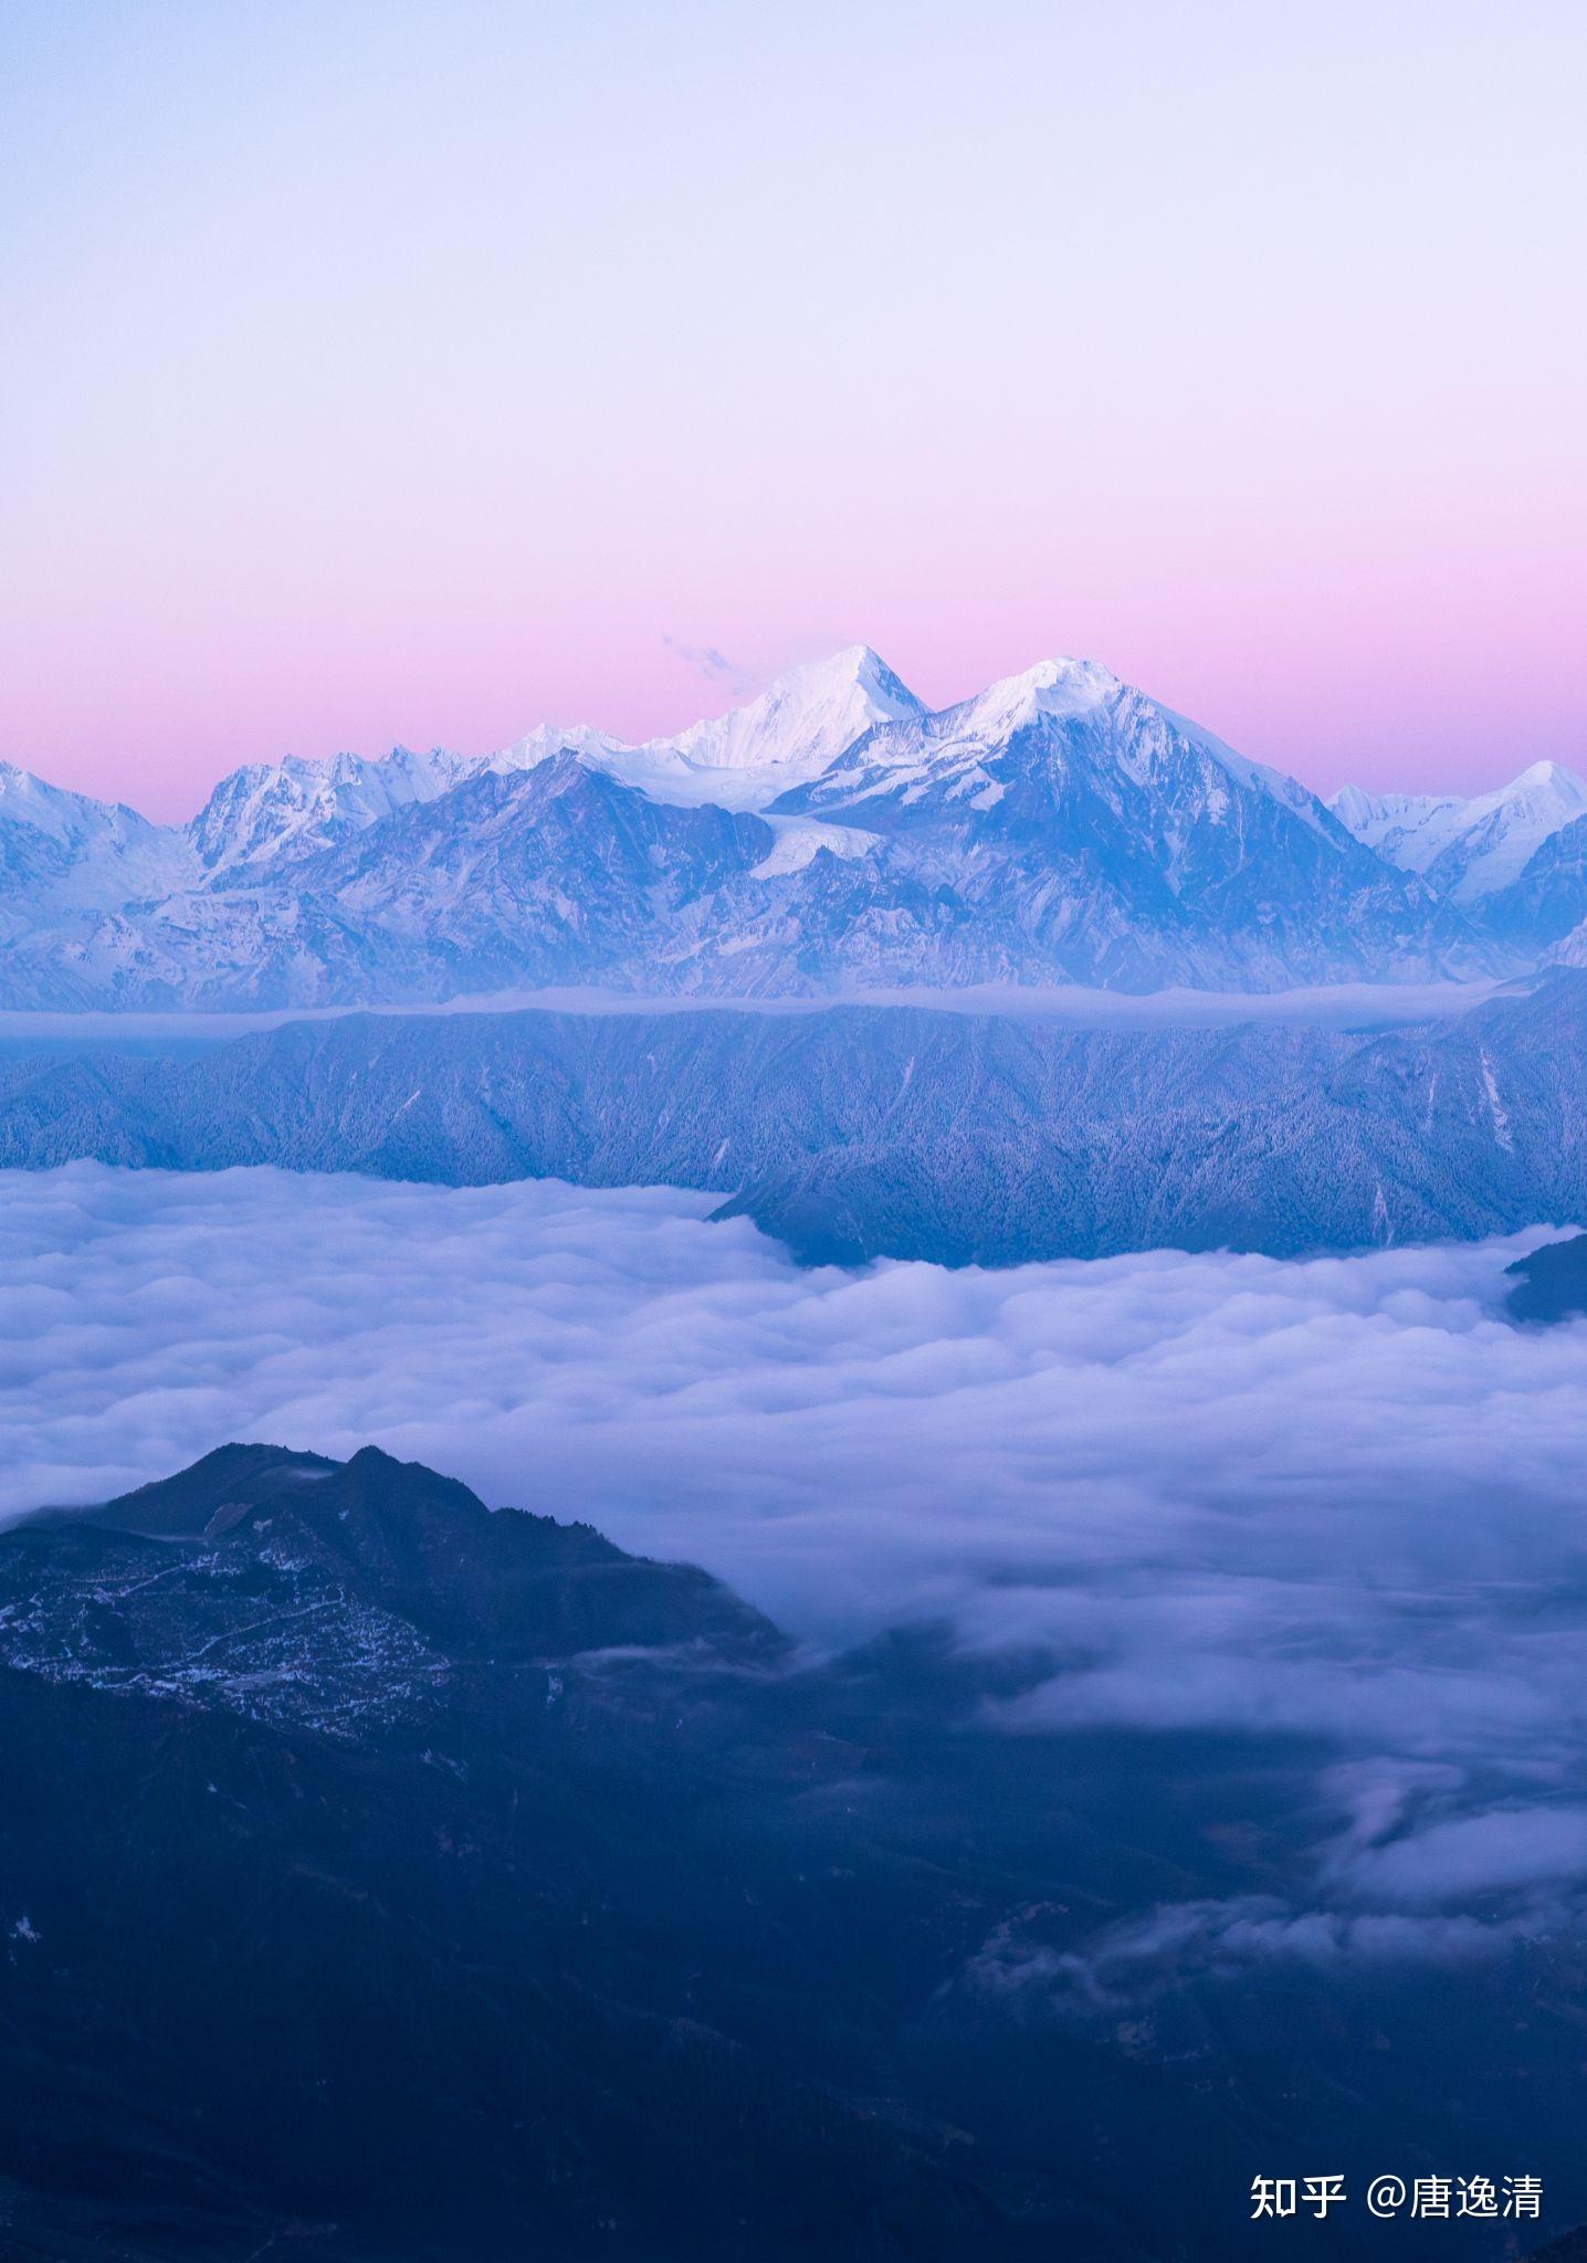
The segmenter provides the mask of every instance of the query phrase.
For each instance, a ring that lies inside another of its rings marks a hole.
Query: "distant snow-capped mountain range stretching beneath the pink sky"
[[[0,946],[7,1007],[1512,975],[1587,960],[1587,785],[1327,806],[1089,661],[928,713],[851,647],[668,740],[256,765],[186,826],[0,767]]]

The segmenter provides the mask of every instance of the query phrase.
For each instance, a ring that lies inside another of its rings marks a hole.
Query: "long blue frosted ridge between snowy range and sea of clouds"
[[[688,1186],[817,1260],[1476,1238],[1587,1215],[1587,973],[1388,1032],[521,1012],[0,1064],[0,1165],[79,1156]]]

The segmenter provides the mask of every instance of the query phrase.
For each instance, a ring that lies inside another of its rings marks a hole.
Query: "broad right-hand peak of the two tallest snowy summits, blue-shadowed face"
[[[1440,960],[1415,880],[1293,778],[1089,661],[881,726],[774,812],[883,833],[1032,955],[1121,987],[1170,964],[1263,989]]]

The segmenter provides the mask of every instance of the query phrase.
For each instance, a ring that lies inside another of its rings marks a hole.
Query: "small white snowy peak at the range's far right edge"
[[[1587,781],[1560,763],[1533,763],[1492,794],[1363,794],[1347,785],[1329,808],[1376,855],[1472,905],[1519,880],[1537,849],[1587,812]]]

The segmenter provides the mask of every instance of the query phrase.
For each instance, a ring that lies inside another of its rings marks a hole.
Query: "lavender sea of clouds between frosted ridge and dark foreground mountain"
[[[1053,1672],[1010,1733],[1315,1740],[1293,1892],[1080,1971],[1462,1957],[1587,1883],[1587,1326],[1544,1238],[799,1270],[711,1197],[0,1174],[0,1516],[224,1439],[364,1442],[731,1580],[810,1643],[946,1616]]]

